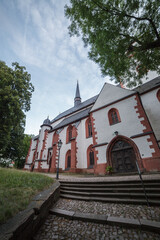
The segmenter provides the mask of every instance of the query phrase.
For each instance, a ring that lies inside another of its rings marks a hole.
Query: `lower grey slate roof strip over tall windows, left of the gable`
[[[57,124],[52,130],[56,130],[56,129],[59,129],[59,128],[62,128],[70,123],[74,123],[74,122],[77,122],[79,120],[81,120],[82,118],[85,118],[89,115],[89,112],[91,110],[92,107],[89,107],[85,110],[82,110],[78,113],[75,113],[74,115],[68,117],[68,118],[65,118],[62,122],[60,122],[59,124]]]

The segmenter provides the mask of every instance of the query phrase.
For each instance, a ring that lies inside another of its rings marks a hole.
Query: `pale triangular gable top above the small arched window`
[[[136,92],[134,90],[128,90],[109,83],[105,83],[95,104],[91,109],[91,112],[121,99],[124,99],[135,93]]]

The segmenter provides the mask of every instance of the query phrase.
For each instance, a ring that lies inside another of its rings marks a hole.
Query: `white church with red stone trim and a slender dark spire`
[[[62,146],[58,149],[58,141]],[[105,83],[97,96],[44,120],[25,170],[105,174],[160,171],[160,77],[129,90]]]

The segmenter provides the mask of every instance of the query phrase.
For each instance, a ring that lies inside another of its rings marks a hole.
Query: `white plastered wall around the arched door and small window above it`
[[[131,96],[123,101],[112,104],[106,108],[93,112],[93,118],[95,119],[95,128],[97,131],[97,144],[110,143],[115,137],[114,132],[118,132],[119,135],[130,138],[131,136],[143,133],[145,127],[141,124],[143,118],[138,118],[139,113],[136,113],[134,107],[137,105],[135,96]],[[121,122],[110,125],[108,119],[108,111],[111,108],[116,108],[119,111]],[[142,158],[152,156],[153,149],[149,147],[150,142],[147,141],[149,136],[143,136],[140,138],[134,138],[132,141],[137,145]],[[106,163],[106,150],[107,145],[97,147],[98,150],[98,164]],[[145,150],[145,151],[144,151]]]

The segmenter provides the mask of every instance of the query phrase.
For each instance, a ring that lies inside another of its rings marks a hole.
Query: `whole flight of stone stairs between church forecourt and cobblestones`
[[[60,197],[109,203],[147,204],[140,180],[60,181]],[[144,180],[150,206],[160,206],[160,179]]]

